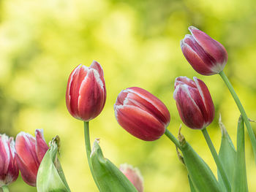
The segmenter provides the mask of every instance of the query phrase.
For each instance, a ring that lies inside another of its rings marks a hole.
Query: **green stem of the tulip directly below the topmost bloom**
[[[208,134],[208,131],[206,130],[206,128],[203,128],[202,132],[203,132],[203,136],[206,139],[208,147],[211,150],[211,155],[214,157],[214,161],[215,161],[215,163],[217,165],[217,168],[219,169],[219,174],[222,177],[224,185],[225,185],[227,191],[230,192],[231,191],[230,182],[227,179],[227,174],[226,174],[226,172],[225,172],[225,170],[224,170],[224,168],[222,166],[222,163],[219,161],[219,156],[218,156],[218,154],[217,154],[217,152],[216,152],[216,150],[214,148],[214,144],[211,142],[211,138],[210,138],[210,136]]]

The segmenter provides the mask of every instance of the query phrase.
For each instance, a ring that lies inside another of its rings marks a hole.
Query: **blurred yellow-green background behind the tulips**
[[[225,72],[249,118],[256,119],[256,4],[254,0],[0,0],[0,131],[15,137],[43,128],[47,142],[61,138],[61,164],[72,191],[97,191],[83,139],[83,122],[65,105],[67,78],[78,64],[99,61],[105,72],[107,101],[92,120],[91,141],[100,138],[105,156],[143,174],[146,192],[189,191],[187,171],[167,137],[143,142],[116,122],[118,93],[139,86],[170,110],[170,131],[181,123],[173,99],[178,76],[197,76],[208,85],[216,107],[208,132],[219,148],[219,112],[236,145],[236,104],[218,75],[197,74],[181,53],[188,26],[197,26],[229,53]],[[252,124],[255,128],[256,124]],[[200,131],[183,125],[183,134],[203,159],[217,169]],[[256,191],[256,169],[246,134],[249,191]],[[10,190],[36,191],[18,179]]]

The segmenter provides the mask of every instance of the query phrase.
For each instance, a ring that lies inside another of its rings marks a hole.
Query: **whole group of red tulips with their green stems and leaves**
[[[219,74],[236,101],[241,116],[238,119],[237,147],[222,130],[219,153],[211,142],[206,127],[214,120],[214,102],[206,84],[194,77],[177,77],[173,98],[178,113],[186,126],[203,132],[218,169],[218,179],[209,166],[193,150],[192,146],[178,131],[178,139],[167,129],[170,112],[156,96],[143,88],[131,87],[118,94],[114,112],[119,125],[129,134],[145,141],[154,141],[165,134],[176,145],[178,158],[187,168],[191,191],[248,191],[244,153],[244,124],[246,125],[252,150],[256,155],[255,134],[249,118],[236,92],[223,72],[227,63],[227,51],[219,42],[195,27],[189,27],[191,34],[181,40],[181,50],[196,72],[203,75]],[[122,192],[143,191],[143,178],[138,169],[124,164],[118,169],[105,158],[95,139],[93,147],[89,137],[89,120],[102,112],[106,101],[106,87],[102,66],[93,61],[91,66],[77,66],[69,75],[66,104],[69,113],[84,122],[86,153],[92,177],[99,191]],[[14,182],[19,174],[23,180],[36,186],[37,191],[70,191],[58,158],[59,137],[54,137],[49,147],[36,130],[35,138],[20,132],[15,139],[0,135],[0,186],[8,191],[7,185]]]

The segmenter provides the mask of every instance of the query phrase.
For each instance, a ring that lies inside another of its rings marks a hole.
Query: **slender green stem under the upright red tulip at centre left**
[[[97,179],[94,174],[94,169],[91,164],[91,156],[90,156],[91,155],[91,143],[90,143],[90,134],[89,134],[89,122],[83,121],[83,125],[84,125],[84,139],[86,142],[86,155],[87,155],[88,164],[89,164],[89,167],[91,170],[92,177],[94,178],[94,183],[96,183],[96,185],[100,191],[99,184],[97,182]]]

